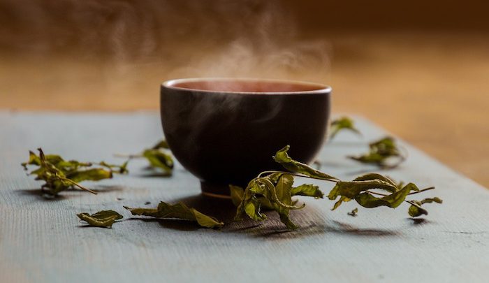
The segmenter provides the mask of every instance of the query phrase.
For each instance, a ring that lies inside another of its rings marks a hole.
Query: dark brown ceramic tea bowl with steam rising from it
[[[161,86],[163,132],[204,194],[228,196],[228,184],[282,170],[272,156],[285,145],[294,159],[313,161],[328,130],[330,93],[287,80],[170,80]]]

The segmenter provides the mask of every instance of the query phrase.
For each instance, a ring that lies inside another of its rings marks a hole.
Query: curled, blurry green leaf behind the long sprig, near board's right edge
[[[406,159],[399,147],[397,147],[394,138],[389,136],[370,143],[369,149],[366,154],[358,157],[349,157],[349,159],[364,164],[374,164],[380,168],[395,168]],[[395,163],[389,164],[388,162],[392,159],[396,159]]]

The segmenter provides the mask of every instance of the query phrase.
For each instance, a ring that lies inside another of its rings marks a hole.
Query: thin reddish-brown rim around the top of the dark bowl
[[[245,81],[245,82],[279,82],[279,83],[293,83],[297,85],[307,85],[307,86],[312,86],[312,87],[317,87],[318,89],[313,89],[313,90],[305,90],[305,91],[298,91],[298,92],[235,92],[235,91],[219,91],[219,90],[205,90],[205,89],[191,89],[187,87],[175,87],[175,84],[182,83],[182,82],[212,82],[212,81],[231,81],[231,80],[238,80],[238,81]],[[307,82],[307,81],[302,81],[302,80],[284,80],[284,79],[268,79],[268,78],[218,78],[218,77],[212,77],[212,78],[180,78],[180,79],[173,79],[173,80],[167,80],[161,84],[161,87],[167,88],[167,89],[177,89],[177,90],[187,90],[191,92],[205,92],[205,93],[216,93],[216,94],[261,94],[261,95],[268,95],[268,94],[288,94],[288,95],[293,95],[293,94],[330,94],[332,91],[332,88],[328,85],[323,85],[317,82]]]

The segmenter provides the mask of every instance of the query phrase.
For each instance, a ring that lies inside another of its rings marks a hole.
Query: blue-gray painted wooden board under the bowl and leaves
[[[386,134],[357,122],[363,138],[340,133],[319,156],[322,170],[344,179],[376,170],[344,158]],[[156,113],[0,113],[0,282],[488,282],[489,191],[406,143],[407,161],[383,173],[437,187],[418,195],[444,199],[427,205],[424,221],[409,219],[407,204],[350,217],[354,202],[331,212],[331,201],[300,198],[307,207],[291,212],[301,226],[293,232],[271,212],[258,226],[230,223],[221,231],[132,219],[122,205],[180,200],[232,217],[228,205],[200,198],[198,181],[179,164],[162,178],[135,161],[129,175],[85,182],[96,196],[68,191],[50,201],[20,167],[39,146],[69,159],[121,161],[112,153],[136,153],[161,135]],[[107,209],[124,221],[87,228],[75,216]]]

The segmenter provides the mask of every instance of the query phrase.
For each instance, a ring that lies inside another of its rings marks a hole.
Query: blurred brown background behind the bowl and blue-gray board
[[[0,0],[0,108],[159,107],[170,78],[332,85],[364,115],[489,187],[484,1]],[[421,165],[422,166],[422,165]]]

